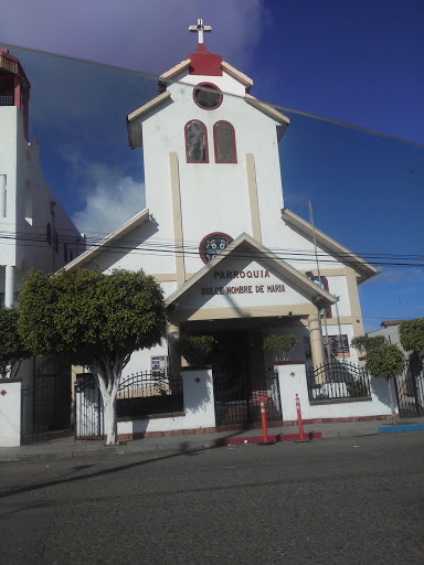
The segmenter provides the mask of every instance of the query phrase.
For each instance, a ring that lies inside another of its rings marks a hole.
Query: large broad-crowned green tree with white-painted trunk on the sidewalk
[[[25,345],[33,354],[62,355],[91,370],[102,393],[106,444],[116,444],[123,370],[134,351],[159,344],[165,334],[160,286],[142,270],[32,271],[19,299]]]

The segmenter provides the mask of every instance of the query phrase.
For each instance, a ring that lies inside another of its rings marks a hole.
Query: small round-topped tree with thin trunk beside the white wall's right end
[[[405,358],[398,345],[385,343],[379,348],[371,349],[367,353],[367,371],[375,377],[383,377],[388,381],[390,406],[392,418],[395,419],[394,402],[391,379],[402,374],[405,369]]]

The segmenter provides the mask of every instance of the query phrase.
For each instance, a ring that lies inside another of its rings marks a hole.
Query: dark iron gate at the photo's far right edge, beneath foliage
[[[409,362],[403,375],[395,380],[401,417],[424,416],[424,367],[420,359]]]

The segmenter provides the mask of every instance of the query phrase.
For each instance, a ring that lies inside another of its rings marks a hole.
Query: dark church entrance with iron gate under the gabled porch
[[[227,331],[214,333],[212,356],[216,426],[261,422],[261,396],[267,420],[282,420],[278,377],[266,370],[262,333]]]

